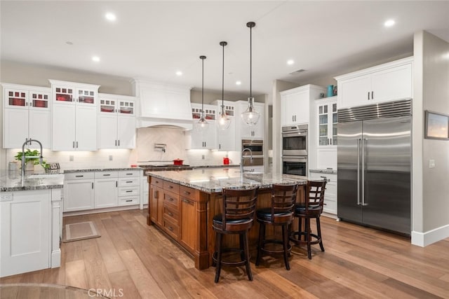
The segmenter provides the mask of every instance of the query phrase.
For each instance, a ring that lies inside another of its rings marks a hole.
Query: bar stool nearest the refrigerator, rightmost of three
[[[320,244],[324,251],[323,239],[321,238],[320,216],[323,212],[325,181],[307,181],[306,198],[304,203],[295,204],[295,217],[299,217],[297,232],[290,233],[290,241],[295,244],[307,244],[307,257],[311,260],[311,244]],[[316,220],[316,233],[311,232],[310,219]],[[304,230],[302,220],[304,219]],[[302,239],[304,236],[304,239]],[[314,238],[312,241],[311,238]]]

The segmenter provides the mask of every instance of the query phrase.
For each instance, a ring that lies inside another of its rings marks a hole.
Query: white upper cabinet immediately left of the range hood
[[[135,97],[98,97],[98,148],[135,148]]]

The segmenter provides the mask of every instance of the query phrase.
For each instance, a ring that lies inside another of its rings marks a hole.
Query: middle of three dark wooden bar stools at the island
[[[293,221],[293,208],[295,207],[297,184],[273,184],[272,206],[257,209],[255,212],[257,222],[260,223],[259,242],[257,245],[257,258],[255,265],[259,265],[261,253],[283,253],[286,269],[290,270],[288,256],[292,246],[289,244],[288,226]],[[282,239],[265,239],[265,225],[281,225]],[[282,249],[268,249],[266,244],[281,244]]]

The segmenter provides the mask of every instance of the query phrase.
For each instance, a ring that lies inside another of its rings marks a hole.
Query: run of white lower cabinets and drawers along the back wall
[[[64,211],[140,204],[141,169],[65,175]]]

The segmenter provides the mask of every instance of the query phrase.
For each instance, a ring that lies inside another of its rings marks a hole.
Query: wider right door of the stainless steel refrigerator
[[[363,223],[407,235],[411,207],[410,126],[410,116],[363,120],[362,137]]]

